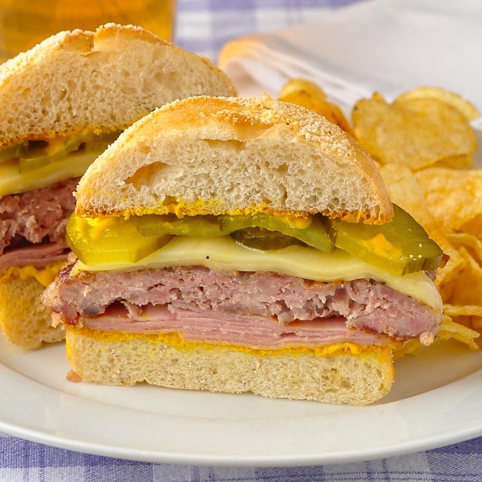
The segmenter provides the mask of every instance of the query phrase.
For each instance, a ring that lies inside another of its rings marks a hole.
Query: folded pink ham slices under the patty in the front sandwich
[[[132,310],[114,304],[97,317],[81,317],[87,328],[129,333],[179,333],[191,342],[229,343],[252,348],[319,346],[352,342],[362,345],[386,344],[387,338],[348,328],[344,317],[317,318],[280,324],[274,319],[255,315],[227,315],[213,311],[169,309],[147,305]]]

